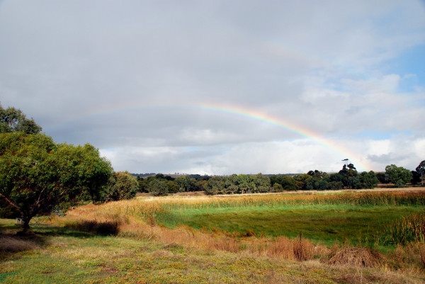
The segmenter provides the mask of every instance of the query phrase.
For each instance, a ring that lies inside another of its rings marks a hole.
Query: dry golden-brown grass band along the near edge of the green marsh
[[[132,202],[128,203],[131,204]],[[213,249],[278,259],[307,261],[313,259],[314,255],[317,256],[321,251],[327,251],[326,249],[318,249],[318,246],[314,246],[307,239],[291,240],[286,237],[275,239],[266,237],[235,238],[232,234],[222,232],[220,229],[213,229],[213,232],[198,231],[186,225],[169,229],[164,226],[157,226],[155,222],[145,222],[135,217],[121,217],[113,210],[105,212],[103,206],[100,206],[102,210],[98,210],[99,207],[95,205],[82,206],[69,211],[66,217],[51,217],[50,222],[77,229],[95,220],[96,222],[120,222],[119,237],[149,239],[164,244],[178,244],[185,248]],[[149,221],[149,218],[147,221]]]

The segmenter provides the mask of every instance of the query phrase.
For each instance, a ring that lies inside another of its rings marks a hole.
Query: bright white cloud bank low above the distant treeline
[[[386,140],[351,138],[332,144],[335,147],[329,149],[300,139],[228,145],[218,151],[215,147],[123,147],[113,152],[101,150],[101,154],[111,159],[116,171],[164,174],[297,174],[314,169],[336,172],[346,158],[359,171],[385,171],[388,164],[414,170],[425,159],[425,139],[409,135]]]

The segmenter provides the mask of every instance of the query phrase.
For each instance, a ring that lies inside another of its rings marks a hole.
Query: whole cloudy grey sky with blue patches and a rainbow
[[[115,171],[425,159],[425,1],[0,1],[0,102]]]

